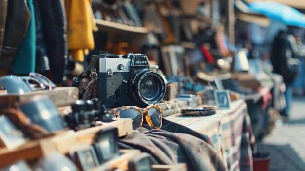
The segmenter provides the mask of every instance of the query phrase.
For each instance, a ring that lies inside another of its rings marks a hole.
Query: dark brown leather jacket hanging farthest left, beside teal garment
[[[31,14],[25,0],[0,0],[0,9],[0,68],[10,73]]]

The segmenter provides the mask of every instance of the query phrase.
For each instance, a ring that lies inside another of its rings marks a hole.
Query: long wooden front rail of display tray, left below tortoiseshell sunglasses
[[[66,154],[72,146],[91,145],[94,142],[95,133],[109,127],[116,127],[119,136],[133,133],[132,120],[120,118],[105,125],[30,141],[13,150],[3,148],[0,149],[0,168],[18,160],[41,158],[54,151]]]

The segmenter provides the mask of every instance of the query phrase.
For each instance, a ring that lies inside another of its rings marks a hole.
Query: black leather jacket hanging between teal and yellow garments
[[[64,5],[61,0],[38,0],[51,66],[52,80],[62,84],[67,63],[67,36]]]

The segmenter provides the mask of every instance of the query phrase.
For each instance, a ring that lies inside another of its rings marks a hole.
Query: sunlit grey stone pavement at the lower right
[[[289,121],[258,143],[272,153],[270,171],[305,171],[305,97],[294,97],[291,110]]]

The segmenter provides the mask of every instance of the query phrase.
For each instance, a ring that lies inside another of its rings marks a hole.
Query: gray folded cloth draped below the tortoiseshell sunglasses
[[[119,142],[120,148],[150,153],[159,164],[187,163],[188,171],[226,171],[227,167],[212,146],[185,133],[164,130],[134,132]]]

